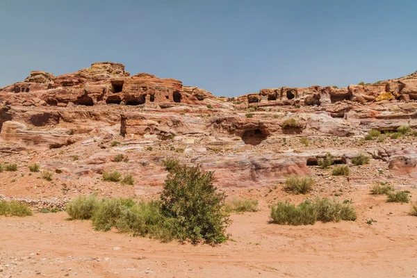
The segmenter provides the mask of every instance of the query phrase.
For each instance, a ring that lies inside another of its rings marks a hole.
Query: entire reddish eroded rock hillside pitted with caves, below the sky
[[[176,79],[131,76],[117,63],[61,76],[31,72],[0,89],[0,154],[20,154],[26,163],[45,153],[42,167],[67,180],[128,171],[138,180],[136,193],[161,186],[168,157],[215,171],[220,187],[270,186],[292,174],[314,174],[327,152],[335,164],[348,165],[366,152],[379,167],[417,178],[411,136],[402,146],[363,140],[370,129],[417,129],[416,77],[347,88],[266,88],[227,99]],[[295,126],[286,126],[287,120]],[[361,149],[369,143],[373,147]],[[73,153],[54,154],[61,147]],[[78,162],[70,157],[75,153]],[[128,162],[116,161],[120,154]]]

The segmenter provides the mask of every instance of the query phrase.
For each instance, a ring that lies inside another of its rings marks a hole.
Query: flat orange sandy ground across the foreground
[[[288,227],[268,224],[264,205],[232,215],[232,240],[218,247],[96,232],[66,213],[1,217],[0,277],[417,277],[409,205],[364,196],[356,206],[356,222]]]

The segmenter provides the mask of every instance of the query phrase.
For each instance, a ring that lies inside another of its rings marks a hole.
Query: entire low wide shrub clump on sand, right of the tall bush
[[[338,202],[334,199],[307,199],[295,206],[288,202],[279,202],[272,206],[272,223],[289,225],[314,224],[316,221],[339,222],[341,220],[354,221],[357,214],[350,202]]]

